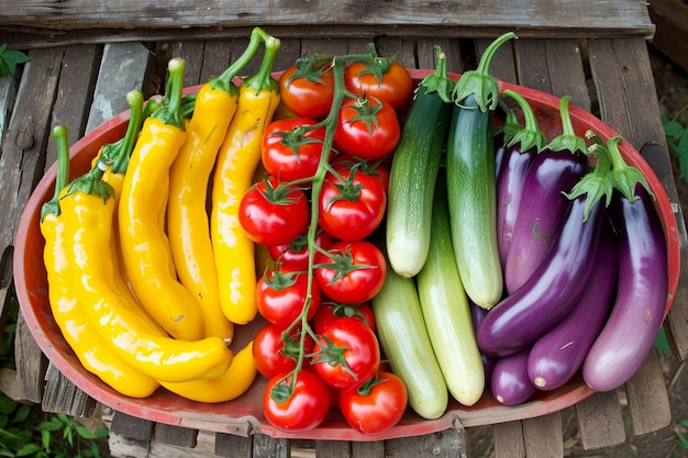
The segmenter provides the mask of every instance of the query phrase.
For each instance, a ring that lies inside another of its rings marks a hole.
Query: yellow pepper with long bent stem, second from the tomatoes
[[[199,90],[186,127],[186,142],[171,166],[169,179],[167,233],[177,276],[198,301],[204,335],[225,339],[233,337],[234,325],[220,305],[208,221],[208,185],[220,145],[236,112],[238,88],[232,80],[260,45],[258,31],[254,30],[244,54]]]

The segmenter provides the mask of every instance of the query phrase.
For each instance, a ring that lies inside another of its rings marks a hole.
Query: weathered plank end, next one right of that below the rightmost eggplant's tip
[[[672,406],[662,364],[653,349],[625,384],[629,416],[635,436],[654,433],[672,422]]]

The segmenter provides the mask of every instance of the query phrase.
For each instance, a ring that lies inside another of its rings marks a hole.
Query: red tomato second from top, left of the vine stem
[[[310,118],[273,121],[265,130],[260,154],[263,166],[280,181],[311,178],[318,170],[325,127],[310,130]]]

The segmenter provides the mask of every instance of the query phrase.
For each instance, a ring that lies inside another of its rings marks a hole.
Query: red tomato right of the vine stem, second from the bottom
[[[375,333],[360,320],[337,319],[315,339],[311,365],[331,387],[348,390],[373,378],[380,366]]]

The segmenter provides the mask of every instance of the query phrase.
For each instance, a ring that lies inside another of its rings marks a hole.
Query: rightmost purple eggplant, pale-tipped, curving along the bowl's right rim
[[[617,138],[608,142],[612,155]],[[662,326],[668,294],[666,241],[653,198],[642,182],[630,189],[636,198],[614,193],[609,211],[619,244],[617,298],[582,366],[585,382],[597,391],[621,387],[641,367]]]

